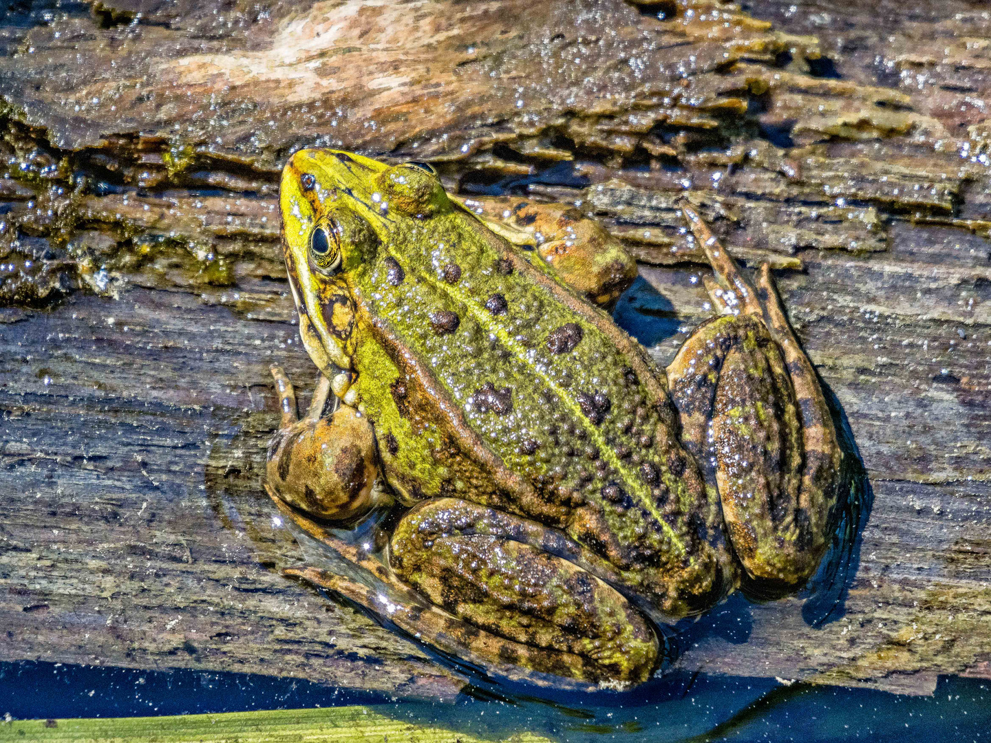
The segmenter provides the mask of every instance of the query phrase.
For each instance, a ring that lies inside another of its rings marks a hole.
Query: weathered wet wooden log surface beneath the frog
[[[654,264],[616,317],[661,362],[707,315],[678,197],[745,259],[800,261],[779,282],[859,447],[869,518],[837,584],[733,597],[684,628],[677,664],[917,692],[989,676],[991,23],[908,5],[684,0],[658,20],[666,4],[619,0],[104,0],[9,17],[0,659],[461,688],[280,575],[313,548],[260,487],[268,366],[313,371],[275,187],[287,153],[319,144],[596,215]]]

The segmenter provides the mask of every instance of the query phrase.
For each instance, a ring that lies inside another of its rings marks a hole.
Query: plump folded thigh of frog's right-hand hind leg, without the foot
[[[668,368],[682,439],[716,484],[740,562],[768,587],[801,584],[825,535],[801,502],[802,423],[781,350],[760,320],[718,317]],[[815,519],[818,523],[821,519]]]

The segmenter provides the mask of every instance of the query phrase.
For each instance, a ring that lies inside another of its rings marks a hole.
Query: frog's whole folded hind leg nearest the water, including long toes
[[[378,586],[313,568],[290,574],[490,672],[624,687],[646,681],[657,665],[647,620],[579,565],[600,567],[601,559],[536,522],[456,498],[425,500],[393,532],[390,570],[330,532],[312,524],[308,531]]]

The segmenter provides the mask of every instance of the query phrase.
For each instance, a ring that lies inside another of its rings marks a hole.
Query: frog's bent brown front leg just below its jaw
[[[348,405],[322,417],[331,383],[320,374],[309,411],[298,419],[291,382],[278,367],[272,374],[282,420],[269,443],[270,494],[320,519],[367,512],[385,497],[377,486],[379,457],[368,418]]]

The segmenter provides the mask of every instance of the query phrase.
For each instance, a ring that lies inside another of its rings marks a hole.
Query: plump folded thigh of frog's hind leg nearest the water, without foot
[[[657,638],[618,591],[533,545],[467,533],[478,509],[453,498],[414,508],[392,537],[397,576],[451,614],[505,638],[494,662],[590,682],[649,678]],[[493,520],[524,521],[484,510]]]

